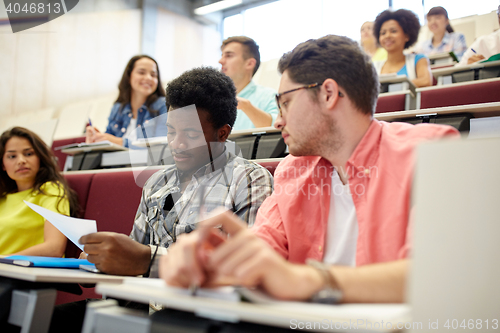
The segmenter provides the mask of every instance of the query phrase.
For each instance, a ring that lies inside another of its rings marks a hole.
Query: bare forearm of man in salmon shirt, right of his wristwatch
[[[361,267],[334,266],[343,303],[401,303],[405,300],[409,260]]]

